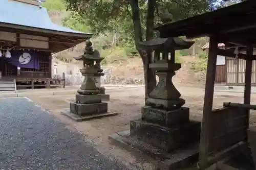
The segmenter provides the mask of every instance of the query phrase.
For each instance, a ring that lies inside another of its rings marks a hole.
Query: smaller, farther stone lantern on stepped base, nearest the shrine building
[[[77,90],[76,101],[70,103],[70,111],[62,113],[77,121],[115,115],[116,113],[108,112],[108,103],[101,102],[100,90],[94,81],[95,75],[99,74],[99,69],[94,65],[104,58],[100,57],[97,50],[93,50],[92,43],[88,41],[84,54],[75,59],[83,61],[80,72],[84,79],[80,89]]]

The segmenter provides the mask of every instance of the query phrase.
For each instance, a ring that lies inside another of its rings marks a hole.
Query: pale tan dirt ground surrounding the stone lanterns
[[[178,85],[178,90],[185,99],[185,106],[190,108],[190,118],[201,120],[204,89],[201,87]],[[115,147],[109,143],[108,136],[118,131],[128,130],[130,120],[140,118],[141,107],[144,105],[144,89],[142,86],[129,89],[111,89],[106,90],[110,94],[109,110],[118,112],[113,117],[94,119],[89,122],[76,123],[73,120],[60,114],[60,111],[69,108],[69,102],[74,100],[74,95],[59,96],[28,96],[32,101],[38,103],[45,109],[51,110],[61,122],[67,125],[69,129],[77,129],[81,133],[87,134],[97,150],[105,155],[115,157],[124,163],[133,164],[137,167],[154,169],[150,158],[139,158],[133,156],[130,152]],[[256,94],[252,94],[251,103],[255,104]],[[243,102],[243,94],[230,92],[215,92],[214,108],[221,108],[223,102]],[[251,124],[256,124],[256,112],[251,112]]]

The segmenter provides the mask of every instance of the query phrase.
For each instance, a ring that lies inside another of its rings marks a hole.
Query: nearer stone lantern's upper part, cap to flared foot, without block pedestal
[[[155,62],[149,67],[155,70],[159,77],[157,86],[146,99],[147,106],[172,110],[185,104],[185,100],[180,98],[181,94],[172,82],[175,71],[181,68],[180,63],[175,63],[175,50],[186,49],[193,44],[194,41],[184,41],[177,37],[156,38],[141,43],[145,50],[154,51]]]

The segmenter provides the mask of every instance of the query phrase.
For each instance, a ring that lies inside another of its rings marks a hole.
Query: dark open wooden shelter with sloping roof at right
[[[256,1],[248,0],[156,28],[162,38],[210,37],[198,162],[202,169],[247,149],[249,109],[255,108],[250,105],[252,62],[256,60],[253,55],[256,45],[255,9]],[[228,48],[218,48],[219,43]],[[222,109],[212,110],[217,55],[245,61],[243,104],[225,104]]]

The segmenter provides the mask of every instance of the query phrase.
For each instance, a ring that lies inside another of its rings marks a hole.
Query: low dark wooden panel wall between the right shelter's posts
[[[221,159],[244,150],[247,144],[248,109],[224,107],[210,113],[208,143],[204,144],[207,151],[200,165],[210,166]],[[201,150],[202,151],[202,150]],[[201,152],[200,151],[200,152]],[[200,167],[203,168],[203,167]]]

